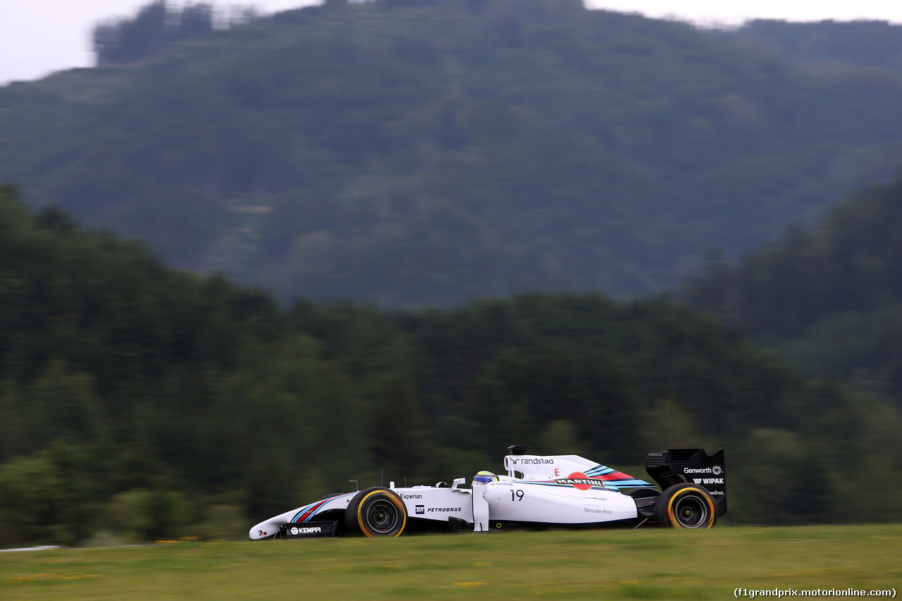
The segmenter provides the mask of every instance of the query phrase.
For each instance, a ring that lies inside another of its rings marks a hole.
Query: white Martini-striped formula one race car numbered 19
[[[506,476],[479,472],[470,488],[452,485],[376,486],[327,495],[255,525],[252,541],[340,534],[399,536],[440,530],[503,531],[643,524],[711,528],[727,513],[723,449],[649,453],[646,469],[661,490],[577,455],[527,455],[508,448]]]

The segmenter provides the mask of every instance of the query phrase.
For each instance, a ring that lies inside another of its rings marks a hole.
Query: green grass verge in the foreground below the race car
[[[0,599],[725,599],[898,588],[899,558],[895,524],[175,542],[0,553]]]

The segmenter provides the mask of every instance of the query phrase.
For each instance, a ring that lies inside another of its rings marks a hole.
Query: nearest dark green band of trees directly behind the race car
[[[902,510],[896,408],[665,301],[281,310],[5,188],[0,303],[3,545],[242,537],[382,470],[497,470],[511,443],[639,475],[648,451],[725,446],[737,522]]]

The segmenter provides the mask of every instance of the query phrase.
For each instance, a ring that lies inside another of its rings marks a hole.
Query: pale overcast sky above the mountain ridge
[[[91,31],[113,17],[132,17],[151,0],[0,0],[0,86],[40,79],[60,69],[94,64]],[[214,0],[253,5],[263,14],[317,4],[315,0]],[[880,19],[902,23],[899,0],[588,0],[593,8],[642,13],[696,23],[738,24],[745,19],[790,21]]]

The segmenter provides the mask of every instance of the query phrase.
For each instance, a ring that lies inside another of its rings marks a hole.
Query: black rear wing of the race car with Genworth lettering
[[[702,486],[713,496],[717,516],[727,513],[726,465],[723,448],[713,455],[704,448],[670,448],[646,456],[645,470],[661,490],[684,482]]]

